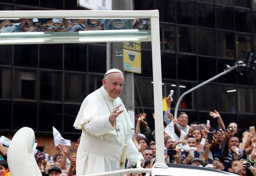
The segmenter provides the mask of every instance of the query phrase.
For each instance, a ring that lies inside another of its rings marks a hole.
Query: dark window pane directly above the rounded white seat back
[[[22,127],[37,129],[37,103],[36,102],[13,102],[13,128],[19,130]]]

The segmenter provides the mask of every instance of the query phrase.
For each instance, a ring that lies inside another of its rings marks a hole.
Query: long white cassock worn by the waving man
[[[119,104],[123,113],[118,115],[113,127],[109,115]],[[121,98],[109,97],[103,86],[85,98],[73,126],[82,130],[76,175],[124,169],[126,158],[133,165],[143,159],[131,140],[129,130],[133,126],[125,105]]]

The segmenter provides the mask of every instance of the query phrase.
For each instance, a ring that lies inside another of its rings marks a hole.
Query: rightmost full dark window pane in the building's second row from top
[[[236,8],[235,16],[236,16],[236,19],[235,19],[236,31],[241,31],[241,32],[252,31],[251,11]]]

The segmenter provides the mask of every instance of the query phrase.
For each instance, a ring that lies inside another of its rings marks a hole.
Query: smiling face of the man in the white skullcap
[[[119,72],[113,72],[108,75],[108,78],[102,79],[102,83],[109,96],[115,99],[122,92],[123,76]]]

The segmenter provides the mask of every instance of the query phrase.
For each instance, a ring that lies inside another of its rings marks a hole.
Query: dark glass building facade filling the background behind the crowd
[[[135,10],[158,9],[162,50],[163,96],[178,97],[224,71],[256,46],[256,2],[248,0],[142,0]],[[82,10],[76,1],[1,0],[0,10]],[[106,44],[0,45],[0,132],[28,126],[77,139],[73,128],[82,100],[101,86],[106,71]],[[154,130],[150,43],[142,43],[142,74],[135,76],[135,113],[147,113]],[[220,112],[225,125],[241,132],[256,123],[255,71],[229,72],[185,96],[180,110],[189,122],[217,126],[209,111]]]

